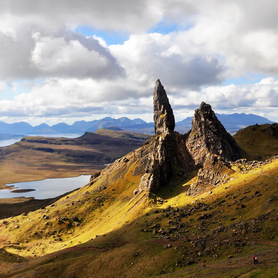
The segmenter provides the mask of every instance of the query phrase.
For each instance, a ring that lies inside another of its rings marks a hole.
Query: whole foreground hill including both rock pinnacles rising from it
[[[154,126],[81,189],[4,219],[2,277],[275,277],[278,157],[246,162],[204,102],[175,132],[159,80]]]

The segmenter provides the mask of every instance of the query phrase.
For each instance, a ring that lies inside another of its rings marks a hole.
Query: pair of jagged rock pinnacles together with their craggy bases
[[[185,175],[199,168],[197,182],[188,192],[197,194],[226,180],[233,172],[228,161],[240,158],[236,142],[204,102],[195,111],[191,131],[185,135],[175,132],[173,110],[159,79],[154,88],[154,125],[145,173],[135,193],[167,185],[174,168]]]

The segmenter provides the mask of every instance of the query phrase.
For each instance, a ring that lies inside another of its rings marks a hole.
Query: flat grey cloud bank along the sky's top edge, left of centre
[[[0,14],[13,15],[18,21],[35,21],[41,26],[90,25],[101,29],[143,31],[163,16],[157,0],[10,0],[0,1]]]

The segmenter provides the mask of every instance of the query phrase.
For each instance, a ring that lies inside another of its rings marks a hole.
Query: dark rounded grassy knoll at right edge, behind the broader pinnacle
[[[233,137],[241,148],[241,156],[249,161],[264,160],[278,154],[277,124],[252,125]]]

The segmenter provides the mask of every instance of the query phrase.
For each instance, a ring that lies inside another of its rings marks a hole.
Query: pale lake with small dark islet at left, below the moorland
[[[27,182],[18,182],[13,185],[12,189],[0,190],[0,198],[13,198],[13,197],[35,197],[36,199],[48,199],[60,196],[66,192],[80,188],[87,184],[90,180],[90,175],[82,175],[73,178],[60,178],[60,179],[46,179]],[[27,193],[12,193],[16,189],[35,189],[35,191]]]

